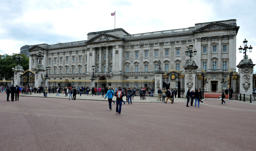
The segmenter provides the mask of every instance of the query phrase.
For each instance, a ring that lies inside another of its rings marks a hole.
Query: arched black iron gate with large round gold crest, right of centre
[[[163,76],[163,88],[178,88],[178,98],[182,98],[185,93],[185,74],[181,71],[172,70]]]

